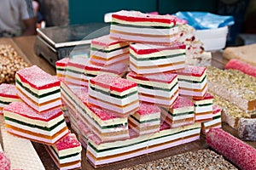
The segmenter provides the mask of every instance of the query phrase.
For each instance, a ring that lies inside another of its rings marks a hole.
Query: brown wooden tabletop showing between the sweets
[[[38,57],[34,53],[33,45],[35,42],[35,36],[32,37],[15,37],[13,38],[14,42],[17,46],[21,49],[21,51],[26,54],[27,59],[31,62],[32,65],[38,65],[44,71],[48,72],[51,75],[55,75],[55,68],[49,65],[46,59]],[[222,57],[221,52],[214,52],[212,53],[212,65],[224,69],[224,65],[228,62],[228,59],[224,59]],[[237,137],[237,132],[235,129],[229,127],[227,124],[223,123],[223,128],[225,131],[232,133],[234,136]],[[247,142],[248,144],[253,145],[256,148],[256,142]],[[35,149],[38,152],[38,156],[40,156],[41,160],[44,163],[45,169],[56,169],[54,161],[49,157],[49,154],[44,149],[43,144],[33,143]],[[167,150],[161,150],[158,152],[154,152],[152,154],[148,154],[145,156],[138,156],[127,161],[120,161],[117,163],[113,163],[107,167],[99,167],[97,169],[119,169],[123,167],[131,167],[133,165],[153,161],[160,158],[164,158],[166,156],[174,156],[186,151],[190,150],[200,150],[207,148],[207,144],[205,143],[205,136],[201,135],[201,139],[189,144],[183,144],[177,147],[173,147]],[[86,160],[85,150],[82,151],[82,169],[94,169],[89,161]]]

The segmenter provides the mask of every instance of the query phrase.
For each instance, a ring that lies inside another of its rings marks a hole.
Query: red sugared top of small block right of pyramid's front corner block
[[[142,102],[140,104],[140,107],[139,107],[139,110],[137,111],[137,113],[140,116],[146,116],[146,115],[150,115],[150,114],[154,114],[154,113],[160,113],[160,108],[157,105]]]

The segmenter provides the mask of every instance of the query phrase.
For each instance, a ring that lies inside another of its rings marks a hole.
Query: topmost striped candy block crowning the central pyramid
[[[112,14],[110,36],[128,42],[170,44],[178,38],[176,22],[172,15],[122,10]]]

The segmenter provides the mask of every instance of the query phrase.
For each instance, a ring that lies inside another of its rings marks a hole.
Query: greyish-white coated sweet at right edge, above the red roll
[[[241,118],[238,122],[237,133],[242,140],[256,140],[256,119]]]

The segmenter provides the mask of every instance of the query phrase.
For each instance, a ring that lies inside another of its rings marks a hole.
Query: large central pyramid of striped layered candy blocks
[[[62,99],[94,167],[189,143],[219,127],[206,68],[185,65],[176,23],[171,15],[119,11],[110,34],[92,40],[90,59],[56,63],[57,72],[67,70]]]

